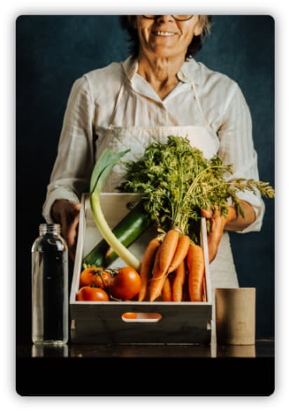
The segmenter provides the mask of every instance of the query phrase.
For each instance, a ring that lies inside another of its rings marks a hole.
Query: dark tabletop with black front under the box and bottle
[[[253,346],[16,347],[22,396],[269,396],[274,370],[273,339]]]

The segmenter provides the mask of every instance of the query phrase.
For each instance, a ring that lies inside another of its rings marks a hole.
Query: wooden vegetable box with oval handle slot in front
[[[102,211],[111,228],[139,201],[138,194],[102,193]],[[76,344],[210,344],[212,294],[207,253],[205,219],[201,220],[200,241],[205,255],[206,302],[76,301],[83,257],[100,241],[90,209],[90,196],[83,194],[79,236],[70,292],[71,342]],[[156,236],[151,227],[129,249],[142,260],[147,244]],[[118,258],[110,267],[125,267]],[[137,313],[125,318],[125,313]]]

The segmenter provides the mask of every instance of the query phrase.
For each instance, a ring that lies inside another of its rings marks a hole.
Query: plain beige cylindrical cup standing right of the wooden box
[[[216,288],[218,344],[255,344],[255,297],[255,288]]]

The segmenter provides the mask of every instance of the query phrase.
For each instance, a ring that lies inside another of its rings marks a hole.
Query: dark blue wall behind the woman
[[[17,339],[30,341],[30,248],[38,234],[64,109],[83,73],[128,56],[116,15],[23,15],[16,21]],[[235,79],[250,106],[261,180],[274,185],[274,21],[216,15],[197,56]],[[265,200],[266,201],[266,200]],[[274,201],[260,233],[232,234],[241,286],[257,288],[257,337],[274,335]]]

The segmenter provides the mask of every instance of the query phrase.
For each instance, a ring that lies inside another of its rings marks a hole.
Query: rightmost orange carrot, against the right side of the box
[[[205,275],[205,260],[203,249],[196,244],[189,245],[187,252],[187,267],[189,269],[189,295],[193,302],[202,301],[203,277]]]

